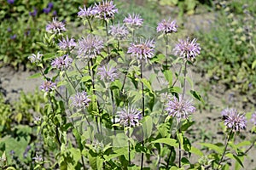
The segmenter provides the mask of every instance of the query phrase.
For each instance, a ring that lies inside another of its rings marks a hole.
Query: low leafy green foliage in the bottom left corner
[[[6,103],[1,95],[0,113],[0,154],[6,154],[3,167],[28,169],[32,167],[32,157],[39,138],[35,134],[34,116],[43,113],[44,98],[40,92],[24,94],[21,92],[19,102]],[[10,167],[12,166],[12,167]]]

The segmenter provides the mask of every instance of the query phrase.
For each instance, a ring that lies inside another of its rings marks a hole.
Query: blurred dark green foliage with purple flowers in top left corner
[[[49,14],[44,13],[44,8],[53,3]],[[59,20],[74,20],[77,17],[77,8],[82,6],[81,1],[15,1],[13,4],[7,1],[0,3],[0,49],[1,65],[12,65],[15,69],[20,66],[35,69],[34,65],[27,62],[27,57],[38,51],[49,52],[49,48],[40,46],[45,32],[46,20],[52,20],[57,14]],[[35,16],[30,13],[36,12]],[[55,14],[54,14],[55,13]],[[21,67],[22,68],[22,67]]]

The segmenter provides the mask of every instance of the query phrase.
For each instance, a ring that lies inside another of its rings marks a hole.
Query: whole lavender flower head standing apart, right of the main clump
[[[239,131],[240,129],[244,129],[246,127],[246,117],[245,114],[238,113],[236,109],[225,109],[221,112],[222,116],[224,116],[224,125],[228,128],[232,128],[235,131]]]

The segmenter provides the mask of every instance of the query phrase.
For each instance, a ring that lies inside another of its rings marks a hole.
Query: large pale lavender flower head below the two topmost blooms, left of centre
[[[79,58],[88,57],[89,59],[93,59],[96,55],[100,54],[100,50],[103,47],[103,41],[99,37],[92,35],[82,37],[77,46]]]

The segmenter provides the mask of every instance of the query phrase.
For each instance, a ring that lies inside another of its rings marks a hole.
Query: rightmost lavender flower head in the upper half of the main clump
[[[192,41],[189,40],[189,37],[186,41],[178,40],[176,47],[174,48],[175,55],[179,54],[184,61],[190,60],[194,61],[195,57],[200,54],[201,47],[199,43],[196,43],[194,38]]]

